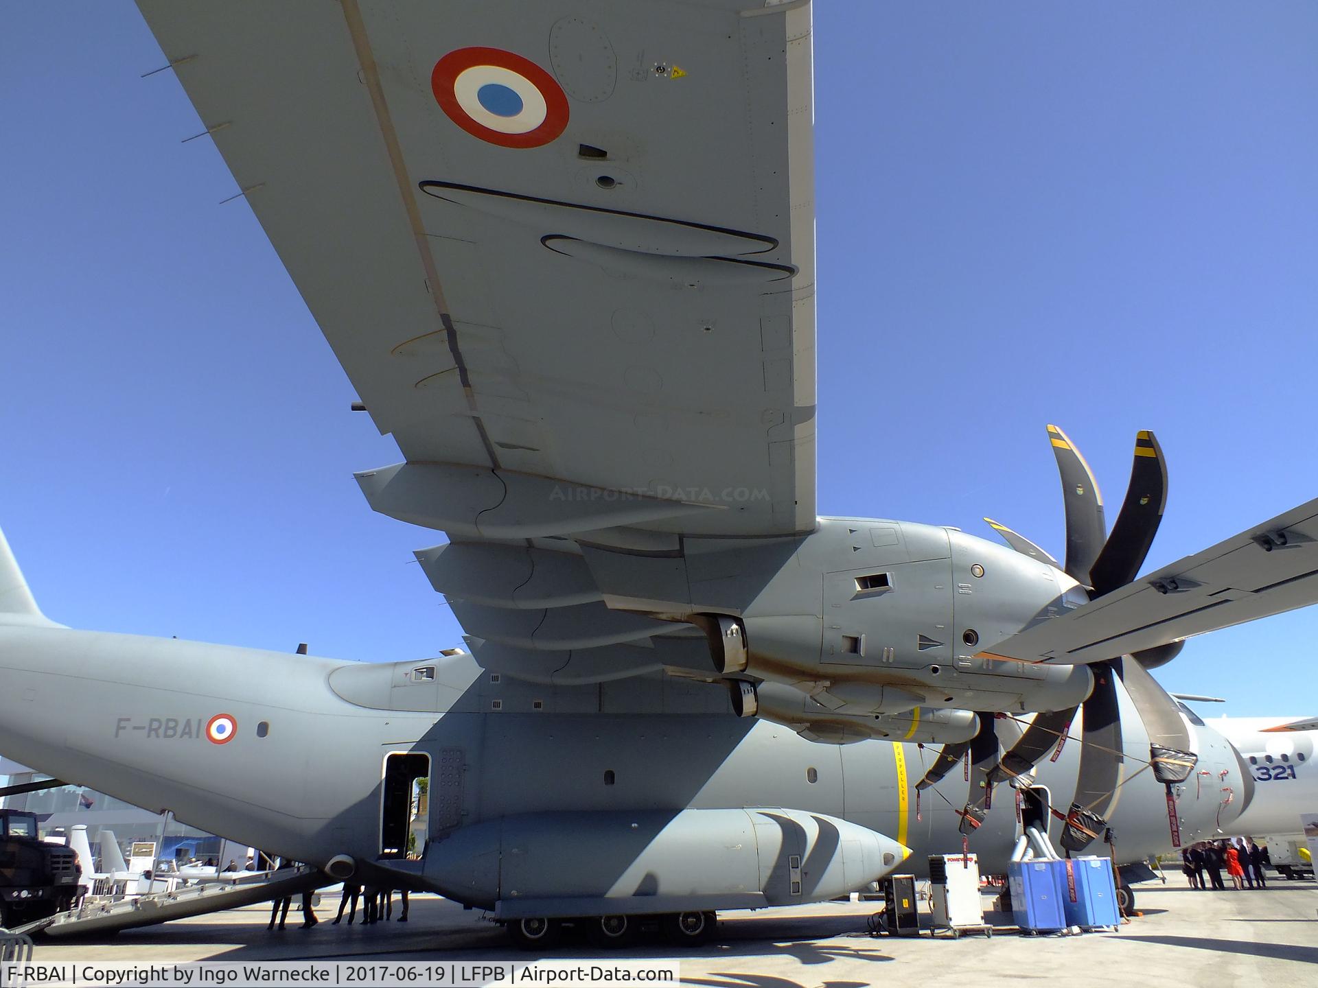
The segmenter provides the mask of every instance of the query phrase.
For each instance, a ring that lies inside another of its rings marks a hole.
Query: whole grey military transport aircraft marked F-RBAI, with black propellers
[[[141,8],[402,451],[366,501],[447,535],[416,556],[467,647],[74,631],[4,547],[5,754],[529,946],[699,942],[963,840],[1002,872],[1031,821],[1139,862],[1251,802],[1148,671],[1318,599],[1318,502],[1137,577],[1156,439],[1108,532],[1049,427],[1061,563],[818,516],[808,3]]]

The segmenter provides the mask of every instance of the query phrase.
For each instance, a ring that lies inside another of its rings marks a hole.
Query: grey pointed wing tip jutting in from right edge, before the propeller
[[[1318,602],[1318,499],[991,645],[987,657],[1097,663]]]

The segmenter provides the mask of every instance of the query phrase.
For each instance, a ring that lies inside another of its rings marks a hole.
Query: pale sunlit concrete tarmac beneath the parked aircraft
[[[996,985],[1318,985],[1318,884],[1276,880],[1265,891],[1201,892],[1180,873],[1166,885],[1135,887],[1137,918],[1112,933],[1023,937],[1011,916],[988,913],[992,938],[875,937],[866,921],[878,902],[720,914],[702,947],[671,947],[658,937],[623,951],[568,938],[546,956],[676,959],[685,983],[706,988],[861,988],[869,984]],[[333,926],[339,896],[327,892],[320,925],[268,931],[257,905],[128,930],[101,941],[38,942],[36,960],[169,963],[187,960],[530,960],[480,912],[435,896],[413,896],[406,923]],[[992,898],[985,897],[986,908]],[[395,900],[397,910],[397,900]],[[924,910],[921,910],[924,914]],[[360,918],[360,917],[358,917]],[[928,918],[927,916],[924,917]],[[297,922],[295,922],[297,921]]]

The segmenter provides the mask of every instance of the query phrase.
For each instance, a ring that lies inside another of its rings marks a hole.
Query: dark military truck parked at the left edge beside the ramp
[[[0,926],[12,930],[72,908],[80,876],[71,847],[41,839],[37,814],[0,809]]]

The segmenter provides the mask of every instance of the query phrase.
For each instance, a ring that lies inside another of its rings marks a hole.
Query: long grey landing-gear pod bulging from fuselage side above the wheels
[[[431,842],[424,875],[501,919],[684,913],[825,901],[909,854],[866,827],[791,809],[530,813]]]

